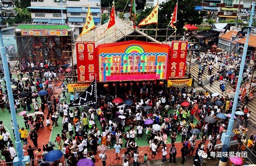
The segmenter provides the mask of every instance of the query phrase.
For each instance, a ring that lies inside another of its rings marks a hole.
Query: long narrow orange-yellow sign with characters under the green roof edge
[[[68,30],[21,30],[22,36],[68,36]]]

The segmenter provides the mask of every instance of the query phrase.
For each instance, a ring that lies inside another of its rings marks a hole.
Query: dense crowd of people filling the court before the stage
[[[204,56],[201,68],[201,60],[198,59],[198,79],[201,76],[200,73],[203,74],[205,70],[203,68],[206,66],[204,64],[208,63],[207,60],[218,62],[218,55],[212,54],[211,57],[208,57]],[[234,59],[237,60],[236,57]],[[239,58],[236,64],[233,73],[237,73],[236,71],[239,70]],[[209,68],[209,75],[213,74],[211,70],[212,68]],[[19,70],[16,71],[17,75],[22,78],[23,73]],[[223,89],[223,85],[228,81],[233,83],[232,77],[230,80],[229,75],[225,74],[224,68],[218,71],[220,71],[217,72],[219,75],[212,77],[212,79],[220,80],[220,89]],[[83,107],[73,109],[69,107],[66,101],[62,100],[67,98],[65,90],[62,97],[50,96],[50,91],[53,88],[52,81],[60,72],[58,69],[49,70],[43,66],[43,70],[39,71],[38,76],[28,72],[25,76],[27,79],[12,79],[12,83],[17,86],[13,90],[16,111],[17,113],[22,111],[21,109],[28,111],[23,115],[24,127],[20,125],[19,132],[32,160],[43,159],[49,151],[53,150],[56,143],[57,149],[62,150],[69,165],[75,165],[83,158],[95,163],[98,146],[105,145],[108,148],[114,148],[115,159],[120,160],[120,163],[124,166],[128,166],[129,163],[138,166],[140,164],[139,158],[143,158],[147,165],[148,160],[155,160],[157,153],[162,154],[162,162],[165,162],[168,156],[170,163],[176,163],[176,155],[181,153],[182,164],[184,164],[187,156],[194,156],[194,161],[198,161],[194,162],[194,165],[199,166],[202,158],[198,156],[197,152],[200,150],[206,151],[210,158],[210,152],[214,151],[217,141],[227,130],[229,118],[218,118],[218,114],[229,114],[232,110],[233,99],[227,96],[219,94],[219,96],[212,97],[208,91],[204,93],[197,91],[194,86],[186,92],[185,88],[171,88],[169,91],[163,84],[157,84],[157,82],[136,82],[136,84],[125,82],[120,83],[118,88],[122,89],[122,92],[127,94],[126,97],[133,101],[131,104],[125,104],[125,102],[113,103],[114,92],[111,90],[113,87],[109,87],[98,89],[99,96],[96,106],[88,110]],[[63,89],[64,87],[63,84]],[[46,90],[48,93],[38,95],[41,90]],[[21,97],[19,95],[23,91],[28,92],[27,96]],[[6,94],[7,92],[1,93],[0,107],[2,111],[7,107],[5,106]],[[37,101],[39,97],[40,102]],[[70,103],[78,97],[79,93],[70,93]],[[216,101],[221,101],[223,106],[216,104]],[[183,106],[184,102],[189,104]],[[151,108],[147,108],[147,106]],[[35,117],[28,116],[27,114],[33,113],[32,110],[40,110],[46,116],[41,114],[37,114]],[[235,136],[232,139],[244,143],[248,148],[252,148],[255,145],[256,137],[252,135],[248,141],[246,140],[250,111],[246,105],[241,108],[241,111],[244,115],[237,116],[237,127],[233,131]],[[125,118],[120,120],[118,117],[121,115]],[[206,117],[211,117],[214,121],[209,122]],[[62,118],[62,121],[58,120],[59,118]],[[152,123],[147,124],[147,120],[152,120]],[[160,125],[161,128],[155,129],[154,124]],[[12,162],[17,154],[13,148],[13,140],[10,139],[9,133],[5,131],[4,125],[7,124],[0,121],[1,136],[3,137],[0,139],[1,154],[5,157],[6,162]],[[51,132],[54,126],[62,129],[56,135],[55,143],[47,143],[41,149],[38,148],[37,139],[40,137],[40,130],[45,126],[48,132]],[[29,128],[30,133],[27,131]],[[199,138],[198,133],[190,132],[192,129],[200,130],[201,137]],[[149,145],[148,153],[145,151],[142,153],[139,146],[137,146],[138,140],[142,140],[144,137],[145,142]],[[176,148],[176,141],[180,137],[182,147],[178,149]],[[168,146],[168,138],[171,139],[171,146]],[[33,145],[27,145],[28,139],[32,140]],[[201,139],[201,142],[196,143],[196,140],[199,139]],[[123,154],[121,148],[125,148]],[[241,150],[244,150],[244,148],[244,146],[240,147]],[[106,159],[109,156],[105,152],[98,155],[102,165],[105,166]],[[47,164],[49,163],[45,160],[40,163],[40,165]],[[37,162],[32,162],[32,165],[37,165]]]

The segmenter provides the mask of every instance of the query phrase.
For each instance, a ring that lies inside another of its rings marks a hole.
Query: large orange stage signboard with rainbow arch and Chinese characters
[[[140,41],[99,45],[99,81],[166,79],[168,51]]]

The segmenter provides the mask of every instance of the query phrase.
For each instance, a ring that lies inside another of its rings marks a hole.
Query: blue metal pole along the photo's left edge
[[[23,147],[19,137],[20,134],[19,134],[19,128],[18,128],[17,119],[16,119],[16,110],[14,107],[13,91],[11,86],[10,73],[9,73],[9,68],[7,63],[6,51],[4,48],[4,41],[3,41],[1,27],[0,27],[0,48],[1,48],[0,51],[1,51],[1,57],[3,62],[4,76],[5,76],[6,86],[7,86],[11,115],[13,120],[14,134],[16,135],[15,145],[17,150],[17,156],[19,159],[18,165],[22,166],[23,165],[22,160],[24,159]]]

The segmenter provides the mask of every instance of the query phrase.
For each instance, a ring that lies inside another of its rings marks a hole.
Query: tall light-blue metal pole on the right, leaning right
[[[229,125],[227,127],[227,133],[223,133],[222,136],[221,136],[221,142],[223,143],[222,154],[223,154],[223,152],[228,152],[228,153],[230,152],[230,145],[229,145],[230,135],[232,133],[233,125],[234,125],[234,114],[236,112],[237,99],[238,99],[238,96],[239,96],[240,85],[241,85],[241,82],[242,82],[243,69],[244,69],[244,63],[245,63],[245,59],[246,59],[249,36],[250,36],[250,32],[251,32],[253,15],[255,13],[254,8],[255,8],[255,2],[252,3],[252,11],[250,13],[250,22],[249,22],[248,31],[247,31],[246,42],[244,44],[242,61],[241,61],[241,64],[240,64],[240,70],[239,70],[239,76],[238,76],[238,80],[237,80],[236,93],[235,93],[235,97],[234,97],[234,103],[233,103],[233,107],[232,107],[231,118],[229,120]],[[228,158],[222,156],[220,158],[219,166],[225,165],[226,162],[227,162],[227,159]]]

